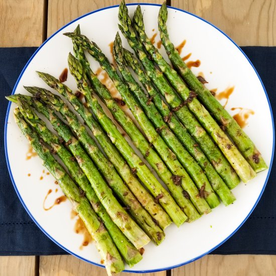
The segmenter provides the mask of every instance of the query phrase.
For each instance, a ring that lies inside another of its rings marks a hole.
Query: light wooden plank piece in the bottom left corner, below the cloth
[[[34,276],[35,256],[1,256],[0,275]]]

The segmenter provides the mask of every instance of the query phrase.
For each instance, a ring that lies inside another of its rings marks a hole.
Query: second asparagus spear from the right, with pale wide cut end
[[[248,182],[256,176],[256,173],[247,163],[236,146],[230,141],[225,132],[220,128],[211,114],[196,98],[196,93],[190,91],[178,73],[162,57],[150,39],[147,37],[144,28],[143,15],[141,7],[137,6],[133,16],[134,26],[137,34],[143,42],[148,53],[151,54],[154,61],[159,65],[161,71],[166,75],[171,85],[176,89],[184,103],[187,104],[190,111],[198,118],[206,131],[212,136],[226,159],[236,171],[243,182]]]

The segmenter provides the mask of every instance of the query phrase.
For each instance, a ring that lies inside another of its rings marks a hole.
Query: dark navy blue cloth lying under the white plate
[[[0,48],[0,133],[4,138],[8,100],[15,83],[37,48]],[[258,71],[276,112],[276,47],[242,47]],[[22,206],[11,182],[4,149],[0,143],[0,255],[53,255],[66,252],[52,242]],[[212,254],[276,254],[276,165],[257,207],[243,226]]]

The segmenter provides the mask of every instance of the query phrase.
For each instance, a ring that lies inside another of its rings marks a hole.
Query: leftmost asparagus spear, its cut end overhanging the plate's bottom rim
[[[63,167],[40,142],[37,133],[26,123],[18,108],[15,109],[14,113],[16,122],[22,133],[33,146],[38,156],[43,160],[43,166],[45,166],[58,181],[62,191],[71,201],[74,210],[78,213],[88,232],[95,240],[97,249],[104,260],[108,275],[114,275],[122,271],[124,269],[124,264],[120,254],[104,228],[103,223],[98,220],[86,197],[81,195],[80,190],[65,172]]]

